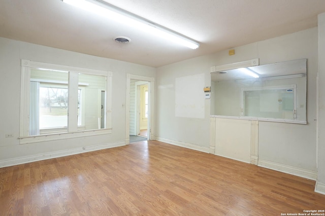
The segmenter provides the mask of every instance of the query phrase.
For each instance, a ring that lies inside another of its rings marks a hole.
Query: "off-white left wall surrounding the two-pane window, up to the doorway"
[[[113,73],[112,133],[19,144],[21,59]],[[155,77],[155,68],[0,38],[0,166],[125,144],[126,73]],[[13,138],[6,138],[13,134]],[[86,150],[82,150],[86,147]]]

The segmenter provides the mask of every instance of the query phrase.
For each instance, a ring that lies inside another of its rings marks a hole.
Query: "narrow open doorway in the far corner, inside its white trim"
[[[154,78],[127,74],[126,82],[127,145],[151,138]]]

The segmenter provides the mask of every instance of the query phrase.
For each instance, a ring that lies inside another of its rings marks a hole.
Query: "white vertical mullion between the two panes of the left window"
[[[69,72],[68,132],[78,131],[78,73]]]

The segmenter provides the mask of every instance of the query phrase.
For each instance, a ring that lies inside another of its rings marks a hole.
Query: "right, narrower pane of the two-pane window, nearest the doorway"
[[[104,128],[106,118],[106,77],[79,74],[79,89],[79,130],[93,130]]]

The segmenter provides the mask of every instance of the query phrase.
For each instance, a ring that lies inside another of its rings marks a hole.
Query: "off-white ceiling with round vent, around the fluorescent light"
[[[0,0],[0,37],[153,67],[317,26],[324,0],[105,0],[200,43],[191,50],[60,0]],[[128,37],[129,44],[113,38]],[[1,48],[0,48],[1,49]]]

